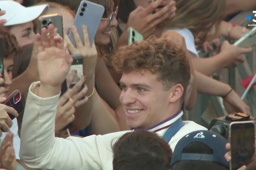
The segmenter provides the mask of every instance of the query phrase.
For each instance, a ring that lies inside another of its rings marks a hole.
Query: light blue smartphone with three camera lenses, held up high
[[[73,26],[76,26],[81,42],[84,44],[84,34],[82,26],[87,26],[90,45],[93,44],[96,31],[105,11],[104,6],[92,3],[87,0],[82,0],[76,13]],[[76,47],[76,42],[73,37],[72,29],[68,34],[72,44]]]

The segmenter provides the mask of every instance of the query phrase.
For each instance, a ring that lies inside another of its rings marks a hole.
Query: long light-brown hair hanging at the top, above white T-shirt
[[[168,23],[167,29],[187,28],[193,34],[204,32],[206,37],[214,24],[215,34],[218,34],[225,0],[176,0],[176,8],[176,16]]]

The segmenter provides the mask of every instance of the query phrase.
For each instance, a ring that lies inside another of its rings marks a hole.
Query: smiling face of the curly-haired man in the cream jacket
[[[123,73],[120,84],[120,102],[130,127],[151,127],[172,116],[169,99],[173,88],[166,91],[156,74],[149,71]]]

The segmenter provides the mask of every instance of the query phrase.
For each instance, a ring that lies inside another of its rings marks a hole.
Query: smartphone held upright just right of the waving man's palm
[[[77,55],[71,55],[73,58],[73,63],[70,66],[70,71],[68,75],[70,75],[72,70],[76,70],[76,77],[73,79],[73,82],[70,84],[70,88],[73,88],[74,85],[82,78],[84,77],[84,69],[83,69],[83,57],[80,54]],[[79,89],[79,92],[84,88],[84,84]]]

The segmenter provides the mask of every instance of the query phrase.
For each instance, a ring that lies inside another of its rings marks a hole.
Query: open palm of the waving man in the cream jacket
[[[61,87],[62,82],[67,76],[72,57],[68,51],[65,51],[62,37],[55,35],[55,29],[52,24],[49,25],[49,37],[45,28],[42,29],[41,35],[36,35],[38,45],[38,74],[42,86],[51,88]]]

